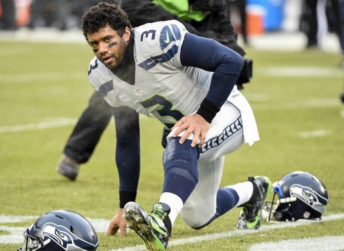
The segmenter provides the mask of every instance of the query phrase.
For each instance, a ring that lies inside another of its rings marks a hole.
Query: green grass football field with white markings
[[[11,243],[13,236],[19,235],[20,239],[24,228],[36,219],[16,221],[10,217],[39,216],[64,208],[109,221],[118,206],[113,121],[91,160],[81,166],[76,182],[55,170],[73,128],[71,121],[76,121],[93,92],[87,79],[92,51],[86,44],[0,42],[0,47],[0,250],[16,250],[20,244]],[[254,61],[254,78],[245,85],[243,94],[252,105],[261,140],[227,156],[222,185],[242,182],[256,174],[277,181],[290,171],[309,171],[329,191],[324,216],[344,213],[340,56],[314,50],[246,51]],[[147,210],[159,199],[162,188],[161,129],[154,118],[142,117],[137,202]],[[344,239],[342,214],[336,220],[311,225],[273,229],[274,224],[265,224],[261,231],[241,234],[235,230],[238,213],[239,208],[234,208],[201,230],[189,228],[178,217],[168,249],[249,250],[261,242],[322,240],[323,236]],[[104,231],[98,236],[101,251],[143,243],[132,231],[124,238],[105,236]],[[310,250],[306,244],[309,241],[304,243],[302,249]],[[344,241],[340,243],[342,246],[337,245],[335,250],[344,250]]]

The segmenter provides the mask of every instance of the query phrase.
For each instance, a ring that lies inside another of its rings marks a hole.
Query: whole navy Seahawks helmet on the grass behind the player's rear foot
[[[265,203],[262,211],[267,221],[320,220],[328,203],[325,185],[309,172],[284,175],[273,184],[272,191],[273,199]]]

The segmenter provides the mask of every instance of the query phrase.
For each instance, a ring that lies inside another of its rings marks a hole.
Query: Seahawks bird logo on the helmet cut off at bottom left
[[[66,251],[78,250],[78,251],[87,251],[86,249],[81,248],[80,246],[89,246],[93,245],[90,242],[80,239],[66,227],[61,225],[56,225],[52,222],[46,223],[42,228],[42,238],[49,238],[52,241],[56,242]]]

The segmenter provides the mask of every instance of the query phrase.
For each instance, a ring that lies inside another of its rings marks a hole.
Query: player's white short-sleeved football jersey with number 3
[[[133,31],[135,85],[116,77],[96,57],[89,68],[90,82],[111,106],[152,113],[170,128],[199,109],[212,73],[181,64],[181,46],[188,32],[182,23],[147,23]]]

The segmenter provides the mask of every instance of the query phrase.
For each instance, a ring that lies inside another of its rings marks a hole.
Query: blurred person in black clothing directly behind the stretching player
[[[102,1],[85,1],[78,3],[80,10],[87,10],[90,4],[94,5]],[[223,45],[233,49],[241,56],[245,51],[237,43],[237,33],[230,20],[230,10],[227,1],[151,1],[122,0],[103,1],[108,3],[118,3],[127,13],[133,27],[147,22],[164,21],[177,19],[181,21],[191,32],[202,37],[213,38]],[[83,5],[83,6],[80,6]],[[91,5],[91,6],[92,6]],[[83,14],[83,13],[82,13]],[[250,81],[252,74],[252,61],[245,60],[242,73],[237,81],[238,89],[242,89],[242,84]],[[57,170],[60,174],[75,180],[79,165],[87,162],[93,154],[98,141],[109,124],[112,113],[103,97],[94,92],[90,98],[89,106],[83,111],[66,146],[63,150]]]

